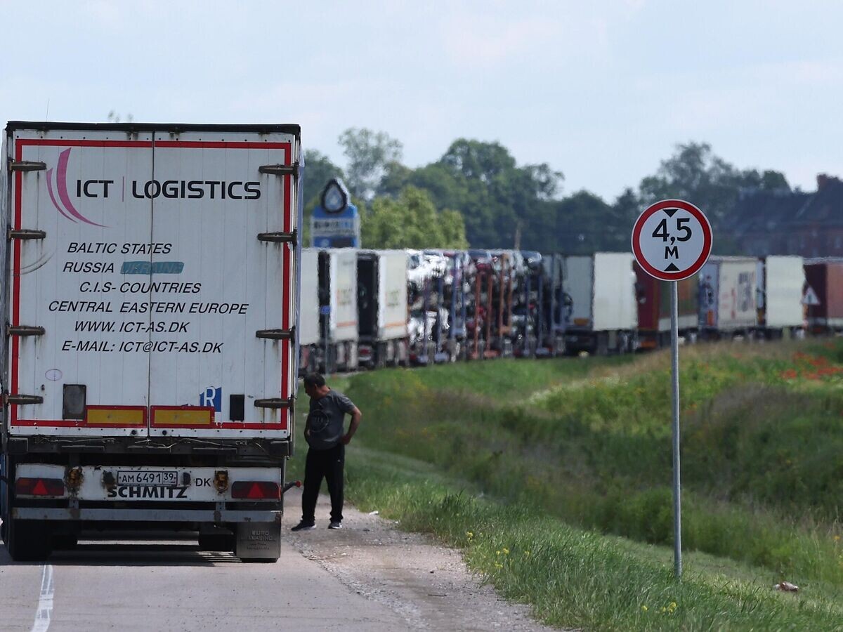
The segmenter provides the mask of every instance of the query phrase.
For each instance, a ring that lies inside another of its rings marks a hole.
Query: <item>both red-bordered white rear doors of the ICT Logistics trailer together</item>
[[[288,437],[298,137],[217,129],[13,130],[11,432]]]

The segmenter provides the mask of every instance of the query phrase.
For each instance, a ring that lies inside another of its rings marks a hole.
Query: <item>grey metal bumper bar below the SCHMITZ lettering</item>
[[[72,520],[105,522],[281,522],[283,511],[222,509],[105,509],[62,507],[13,507],[21,520]]]

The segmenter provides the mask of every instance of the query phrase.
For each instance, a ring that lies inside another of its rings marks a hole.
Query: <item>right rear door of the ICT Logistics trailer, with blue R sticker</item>
[[[153,276],[132,285],[153,312],[150,435],[287,437],[297,151],[283,134],[156,136]]]

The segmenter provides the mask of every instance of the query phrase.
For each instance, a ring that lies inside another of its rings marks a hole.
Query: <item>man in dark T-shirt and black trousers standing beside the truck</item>
[[[302,521],[291,531],[304,531],[316,526],[316,499],[322,477],[328,481],[330,493],[329,529],[342,528],[342,470],[346,463],[346,444],[352,440],[362,413],[351,399],[325,384],[319,373],[304,378],[304,392],[310,398],[310,412],[304,424],[304,439],[308,442],[308,458],[304,466],[302,493]],[[344,431],[345,415],[352,415],[348,431]]]

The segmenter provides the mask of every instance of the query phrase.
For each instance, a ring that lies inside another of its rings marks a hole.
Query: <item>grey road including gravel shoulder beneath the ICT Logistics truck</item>
[[[289,533],[291,496],[276,564],[187,539],[82,540],[46,565],[0,548],[0,630],[543,629],[457,552],[380,517],[346,507],[345,528],[330,531],[321,499],[319,528]]]

